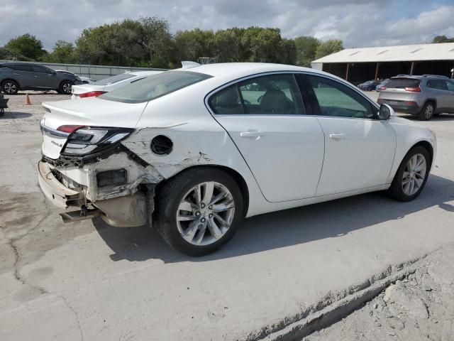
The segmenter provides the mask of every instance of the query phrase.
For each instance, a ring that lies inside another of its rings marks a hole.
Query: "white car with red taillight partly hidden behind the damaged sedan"
[[[104,78],[104,80],[98,80],[92,84],[83,84],[77,85],[77,87],[72,87],[72,96],[71,99],[81,99],[85,97],[96,97],[100,94],[117,89],[118,87],[123,87],[123,85],[130,84],[136,80],[141,80],[142,78],[157,75],[162,71],[131,71],[121,73],[120,75],[115,75],[111,77]]]

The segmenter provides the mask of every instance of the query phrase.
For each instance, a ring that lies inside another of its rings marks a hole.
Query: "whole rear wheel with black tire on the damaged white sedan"
[[[230,175],[193,168],[157,190],[153,227],[182,254],[202,256],[220,249],[243,219],[243,195]]]

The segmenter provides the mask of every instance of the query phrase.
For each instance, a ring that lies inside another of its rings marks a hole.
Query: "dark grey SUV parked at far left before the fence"
[[[19,90],[55,90],[71,94],[72,85],[82,84],[76,75],[58,73],[34,63],[0,63],[0,86],[5,94]]]

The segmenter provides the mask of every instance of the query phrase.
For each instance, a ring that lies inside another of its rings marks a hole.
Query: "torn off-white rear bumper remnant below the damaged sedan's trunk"
[[[65,187],[52,173],[48,163],[38,162],[38,182],[45,197],[55,206],[67,209],[78,208],[84,195],[76,190]]]

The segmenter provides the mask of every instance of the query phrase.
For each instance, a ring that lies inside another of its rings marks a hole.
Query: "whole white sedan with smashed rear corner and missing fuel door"
[[[433,131],[290,65],[201,65],[43,107],[38,180],[66,222],[148,223],[193,256],[243,217],[375,190],[414,200],[436,156]]]

